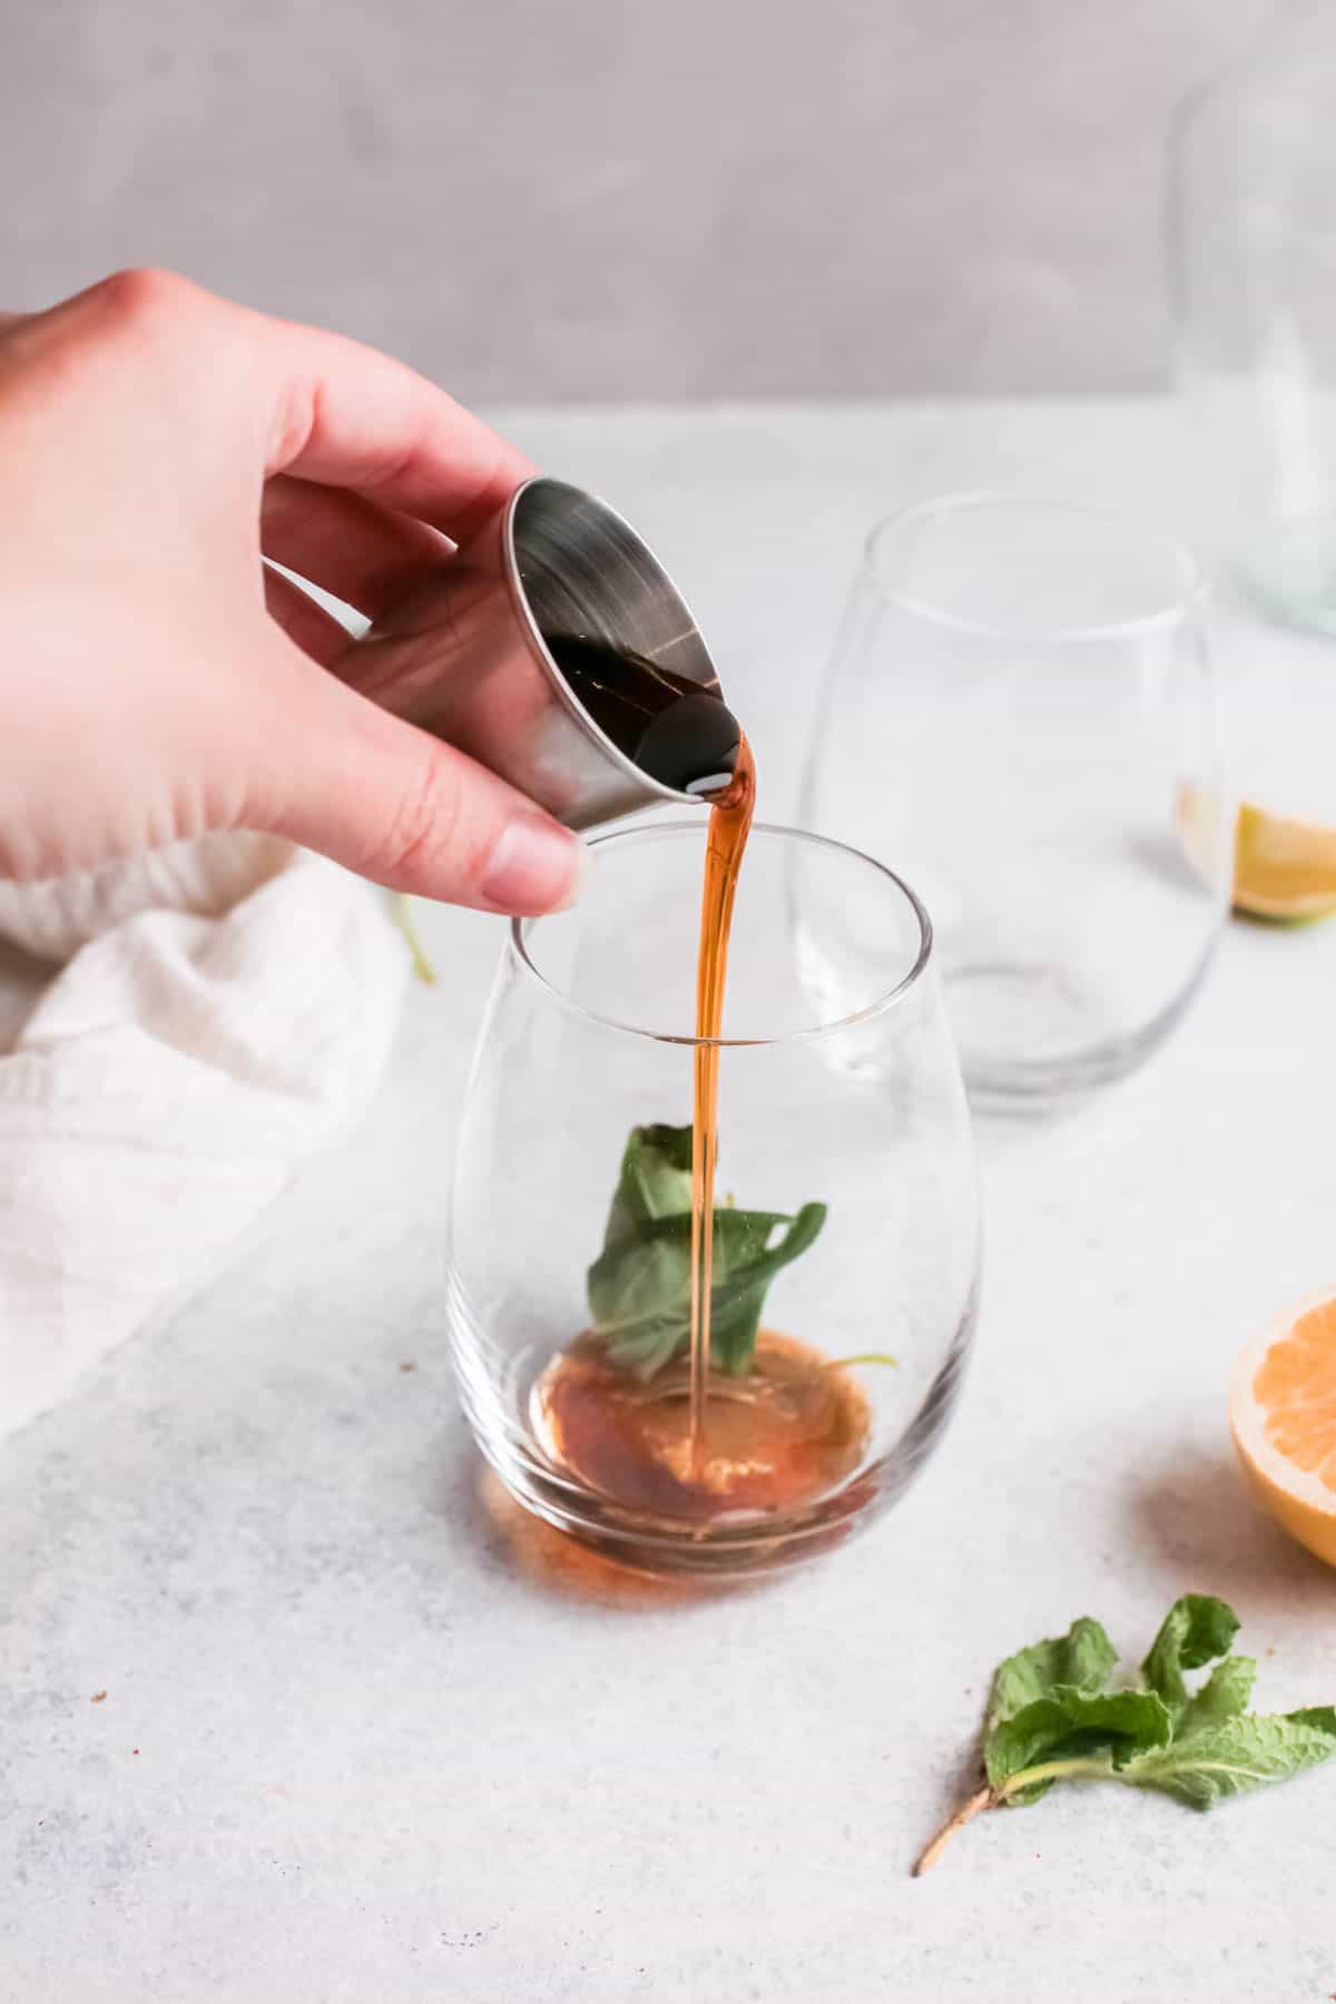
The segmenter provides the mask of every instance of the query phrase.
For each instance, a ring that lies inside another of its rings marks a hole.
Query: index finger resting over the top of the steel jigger
[[[274,373],[266,473],[351,487],[455,543],[537,467],[405,363],[343,335],[266,321]]]

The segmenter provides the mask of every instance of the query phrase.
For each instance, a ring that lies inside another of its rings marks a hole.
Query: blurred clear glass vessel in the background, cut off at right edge
[[[1290,0],[1182,106],[1170,146],[1178,369],[1240,583],[1336,633],[1336,10]]]

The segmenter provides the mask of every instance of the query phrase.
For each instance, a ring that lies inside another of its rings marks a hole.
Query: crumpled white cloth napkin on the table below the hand
[[[246,834],[0,884],[0,938],[58,964],[0,1012],[4,1435],[206,1279],[365,1106],[407,954],[381,894]]]

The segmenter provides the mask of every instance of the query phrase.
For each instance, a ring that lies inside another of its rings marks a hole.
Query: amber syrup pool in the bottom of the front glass
[[[595,1337],[553,1357],[533,1387],[547,1457],[625,1509],[737,1523],[827,1495],[863,1459],[871,1407],[849,1371],[763,1329],[747,1377],[711,1371],[699,1443],[683,1357],[641,1381]]]

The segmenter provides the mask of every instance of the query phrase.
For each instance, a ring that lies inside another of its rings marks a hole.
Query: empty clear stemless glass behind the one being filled
[[[881,523],[799,818],[919,888],[975,1098],[1046,1104],[1132,1070],[1230,898],[1192,557],[1118,507],[1030,495]]]

